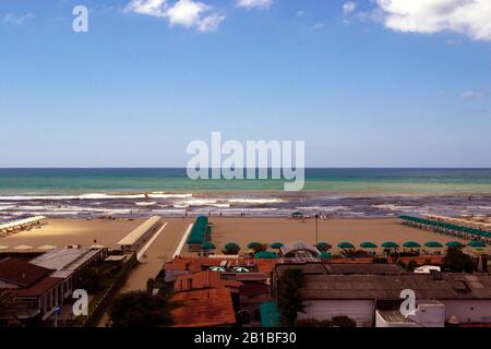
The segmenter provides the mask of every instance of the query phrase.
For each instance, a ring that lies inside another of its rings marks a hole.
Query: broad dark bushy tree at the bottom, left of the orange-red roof
[[[172,324],[169,297],[132,291],[118,296],[109,310],[112,327],[157,327]]]

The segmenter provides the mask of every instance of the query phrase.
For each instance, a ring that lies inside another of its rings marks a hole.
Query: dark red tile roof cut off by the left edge
[[[20,287],[29,287],[52,272],[51,269],[11,257],[0,261],[0,280]]]

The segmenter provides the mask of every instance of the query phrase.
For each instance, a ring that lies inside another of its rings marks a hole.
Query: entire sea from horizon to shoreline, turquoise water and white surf
[[[0,169],[0,220],[48,217],[491,216],[491,169],[306,169],[283,180],[191,180],[184,168]]]

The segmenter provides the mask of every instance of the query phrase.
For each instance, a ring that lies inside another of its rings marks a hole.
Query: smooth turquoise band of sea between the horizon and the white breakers
[[[491,193],[491,169],[307,169],[306,190]],[[282,190],[278,180],[190,180],[185,169],[0,169],[0,195]]]

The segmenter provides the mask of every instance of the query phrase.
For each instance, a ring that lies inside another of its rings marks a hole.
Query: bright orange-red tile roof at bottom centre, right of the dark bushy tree
[[[212,327],[236,324],[230,290],[227,288],[179,292],[173,300],[182,304],[172,311],[175,327]]]

